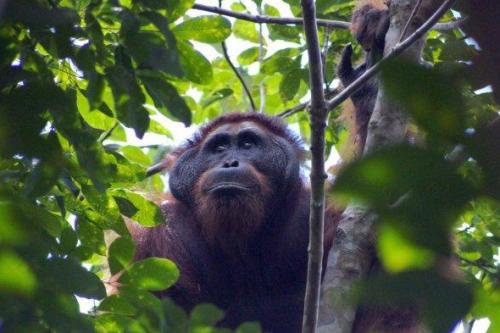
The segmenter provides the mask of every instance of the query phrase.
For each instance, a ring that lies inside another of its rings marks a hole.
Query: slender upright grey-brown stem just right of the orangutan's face
[[[323,63],[316,23],[314,0],[302,0],[304,33],[309,57],[311,87],[311,202],[307,283],[304,297],[302,333],[316,332],[323,263],[323,231],[325,219],[325,128],[328,110],[323,90]]]

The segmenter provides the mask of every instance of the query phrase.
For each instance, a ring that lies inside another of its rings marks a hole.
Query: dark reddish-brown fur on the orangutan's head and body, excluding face
[[[247,122],[285,140],[297,163],[302,160],[300,138],[282,120],[257,113],[215,119],[174,150],[170,159],[181,160],[185,154],[198,151],[222,126],[229,124],[229,131],[237,131]],[[263,162],[276,163],[272,158]],[[180,269],[180,279],[159,296],[173,298],[188,311],[201,302],[214,303],[226,311],[221,326],[258,320],[266,331],[299,332],[310,191],[298,173],[287,180],[288,184],[275,184],[262,168],[250,165],[249,170],[259,190],[242,200],[208,199],[203,184],[208,182],[210,169],[194,182],[192,207],[175,197],[168,198],[162,205],[168,223],[134,232],[136,259],[172,259]],[[332,244],[338,219],[337,211],[327,210],[325,253]]]

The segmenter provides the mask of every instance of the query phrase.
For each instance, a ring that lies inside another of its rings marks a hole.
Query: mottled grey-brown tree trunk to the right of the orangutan
[[[400,43],[405,26],[408,33],[413,33],[436,12],[441,3],[439,0],[424,0],[416,15],[407,24],[417,1],[392,0],[391,23],[385,39],[384,55],[393,53],[393,49]],[[401,56],[419,62],[423,46],[424,38],[417,39]],[[364,154],[401,142],[406,133],[406,126],[406,115],[398,105],[387,98],[383,87],[379,86],[374,111],[368,125]],[[351,332],[356,314],[356,304],[351,302],[352,291],[354,284],[366,276],[373,261],[375,220],[376,216],[373,213],[353,204],[345,210],[328,254],[321,292],[319,332]]]

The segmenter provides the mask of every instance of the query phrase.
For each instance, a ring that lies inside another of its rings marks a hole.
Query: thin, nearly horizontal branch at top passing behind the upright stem
[[[301,25],[303,23],[303,20],[300,17],[273,17],[273,16],[263,16],[263,15],[250,15],[246,13],[234,12],[232,10],[227,10],[215,6],[202,5],[198,3],[195,3],[193,5],[193,9],[234,17],[240,20],[250,21],[254,23],[295,24],[295,25]],[[349,29],[350,26],[349,22],[325,20],[325,19],[318,19],[317,23],[318,25],[324,27],[335,27],[342,29]]]

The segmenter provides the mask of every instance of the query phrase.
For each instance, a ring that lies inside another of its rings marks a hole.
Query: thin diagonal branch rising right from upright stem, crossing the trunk
[[[455,1],[445,0],[443,4],[436,10],[436,12],[427,20],[424,24],[420,26],[414,33],[412,33],[408,38],[406,38],[401,43],[398,43],[394,48],[386,55],[383,59],[377,62],[375,65],[370,67],[366,72],[364,72],[360,77],[354,80],[350,85],[348,85],[342,92],[335,96],[332,100],[328,102],[328,110],[335,108],[340,105],[343,101],[348,99],[352,94],[354,94],[363,84],[370,80],[375,74],[380,71],[382,64],[387,62],[387,60],[392,59],[401,53],[403,53],[408,47],[413,45],[418,39],[427,33],[439,19],[451,8]]]

